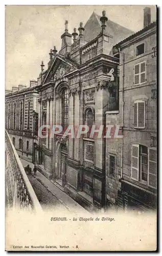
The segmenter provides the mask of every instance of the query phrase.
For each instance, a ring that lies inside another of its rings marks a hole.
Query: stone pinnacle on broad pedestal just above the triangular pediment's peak
[[[65,20],[65,32],[61,35],[62,44],[61,50],[59,51],[59,54],[62,54],[64,56],[67,56],[67,53],[70,52],[72,45],[72,35],[68,33],[67,24],[68,20]]]

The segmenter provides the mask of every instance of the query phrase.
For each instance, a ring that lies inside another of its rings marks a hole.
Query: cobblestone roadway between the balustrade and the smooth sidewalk
[[[38,179],[33,175],[28,175],[28,179],[34,189],[34,192],[40,202],[42,208],[52,210],[64,210],[66,207],[59,201],[59,199],[53,195],[53,193],[44,186]]]

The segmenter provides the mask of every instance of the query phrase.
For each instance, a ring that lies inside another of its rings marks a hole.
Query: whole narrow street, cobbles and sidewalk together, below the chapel
[[[24,159],[20,160],[24,167],[29,164],[33,170],[34,164]],[[43,209],[66,209],[77,214],[79,212],[87,213],[80,204],[38,172],[38,170],[36,176],[32,173],[28,175],[28,178]]]

